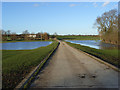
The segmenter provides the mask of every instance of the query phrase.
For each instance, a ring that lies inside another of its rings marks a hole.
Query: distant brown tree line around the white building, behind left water
[[[11,32],[10,30],[0,30],[2,34],[1,39],[2,41],[9,41],[9,40],[48,40],[49,33],[47,32],[38,32],[38,33],[29,33],[28,30],[22,32],[22,34],[16,34],[16,32]]]

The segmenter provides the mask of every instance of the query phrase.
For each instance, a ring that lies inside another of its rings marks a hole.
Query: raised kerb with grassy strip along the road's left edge
[[[29,87],[31,82],[35,79],[35,76],[40,72],[41,68],[44,66],[44,64],[47,62],[47,60],[53,55],[53,53],[57,50],[59,47],[58,45],[40,62],[38,66],[36,66],[16,87],[14,90],[22,90]]]

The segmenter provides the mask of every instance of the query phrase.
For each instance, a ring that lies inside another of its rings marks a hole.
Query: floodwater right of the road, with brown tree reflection
[[[66,40],[67,42],[89,46],[95,49],[117,49],[117,45],[103,43],[101,40]]]

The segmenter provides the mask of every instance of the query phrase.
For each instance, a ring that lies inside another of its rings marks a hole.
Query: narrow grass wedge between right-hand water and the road
[[[88,46],[82,46],[79,44],[73,44],[70,42],[66,42],[66,43],[72,47],[75,47],[81,51],[89,53],[95,57],[98,57],[98,58],[118,67],[119,60],[120,60],[120,58],[118,57],[119,50],[101,50],[101,49],[90,48]],[[120,66],[120,64],[119,64],[119,66]]]

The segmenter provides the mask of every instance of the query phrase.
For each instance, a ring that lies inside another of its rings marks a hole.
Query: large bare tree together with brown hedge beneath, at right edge
[[[101,16],[97,17],[94,26],[98,29],[100,38],[103,42],[111,44],[119,44],[118,36],[120,34],[119,21],[120,14],[116,9],[104,12]]]

